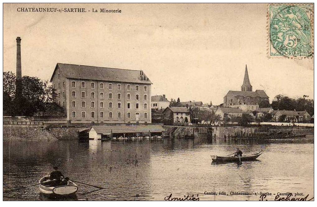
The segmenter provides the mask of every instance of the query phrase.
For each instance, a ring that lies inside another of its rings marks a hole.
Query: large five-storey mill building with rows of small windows
[[[55,102],[72,123],[151,123],[152,82],[143,71],[57,63]]]

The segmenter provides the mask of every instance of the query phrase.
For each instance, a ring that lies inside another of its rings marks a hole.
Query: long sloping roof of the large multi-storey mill
[[[50,81],[52,81],[54,73],[58,67],[66,78],[152,84],[144,72],[142,77],[146,77],[146,80],[140,80],[140,70],[82,66],[64,63],[57,63]]]

